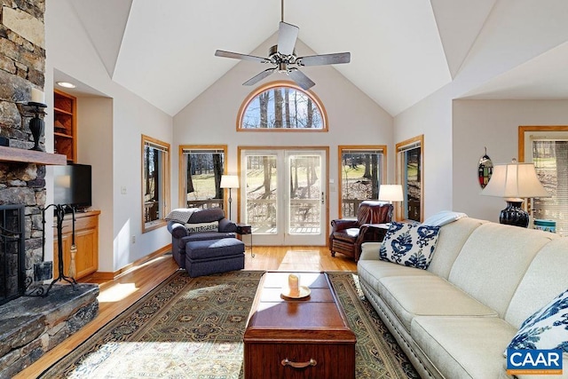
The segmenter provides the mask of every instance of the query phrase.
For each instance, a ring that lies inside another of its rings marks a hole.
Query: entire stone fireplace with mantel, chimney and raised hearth
[[[50,270],[37,274],[46,265],[45,167],[67,161],[45,153],[43,137],[42,151],[29,150],[34,113],[27,103],[44,85],[44,13],[45,0],[0,0],[0,377],[28,367],[99,311],[95,284],[34,293],[51,278]]]

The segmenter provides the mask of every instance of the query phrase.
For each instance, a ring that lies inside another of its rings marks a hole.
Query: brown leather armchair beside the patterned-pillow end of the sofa
[[[357,210],[357,219],[336,219],[331,221],[329,234],[329,250],[331,256],[342,253],[353,257],[355,262],[361,254],[363,242],[383,241],[386,227],[376,227],[370,224],[390,223],[392,204],[384,201],[362,201]]]

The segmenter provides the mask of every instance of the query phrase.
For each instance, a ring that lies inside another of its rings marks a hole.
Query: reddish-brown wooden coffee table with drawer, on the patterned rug
[[[264,273],[244,335],[245,378],[354,378],[355,334],[325,272],[294,272],[310,296],[280,296],[290,272]]]

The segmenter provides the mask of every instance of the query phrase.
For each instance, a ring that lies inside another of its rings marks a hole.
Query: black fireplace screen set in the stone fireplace
[[[24,206],[0,205],[0,304],[22,296],[24,278]]]

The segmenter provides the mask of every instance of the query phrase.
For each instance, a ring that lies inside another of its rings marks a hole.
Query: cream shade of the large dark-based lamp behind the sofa
[[[533,163],[496,164],[487,186],[481,191],[485,196],[504,198],[549,197],[540,184]]]

